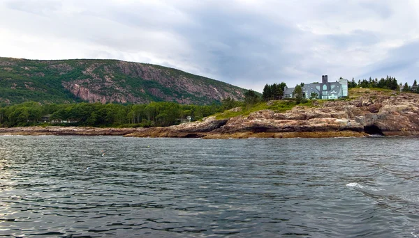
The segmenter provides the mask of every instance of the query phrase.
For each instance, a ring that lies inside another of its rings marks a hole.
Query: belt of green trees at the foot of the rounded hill
[[[214,113],[243,106],[231,98],[211,105],[182,105],[175,102],[149,104],[41,104],[24,102],[0,107],[0,127],[32,126],[42,123],[91,127],[166,127],[200,120]],[[189,118],[189,119],[188,119]]]

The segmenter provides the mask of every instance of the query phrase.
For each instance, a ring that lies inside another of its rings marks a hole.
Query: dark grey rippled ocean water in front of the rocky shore
[[[0,136],[0,236],[419,237],[418,150],[412,137]]]

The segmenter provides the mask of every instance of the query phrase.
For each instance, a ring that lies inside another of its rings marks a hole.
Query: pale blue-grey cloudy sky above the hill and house
[[[416,0],[0,0],[0,56],[154,63],[265,84],[419,79]]]

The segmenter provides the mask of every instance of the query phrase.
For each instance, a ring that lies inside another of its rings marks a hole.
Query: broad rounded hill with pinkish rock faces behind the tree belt
[[[214,79],[146,63],[0,57],[0,104],[27,101],[211,104],[227,97],[242,100],[245,91]]]

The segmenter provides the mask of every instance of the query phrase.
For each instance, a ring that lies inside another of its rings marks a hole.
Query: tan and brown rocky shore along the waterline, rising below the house
[[[419,136],[419,95],[358,90],[353,100],[318,101],[314,107],[295,106],[285,113],[262,110],[249,116],[217,120],[205,118],[171,127],[15,127],[1,134],[122,135],[182,138],[323,138]],[[270,103],[270,102],[267,102]],[[237,109],[236,109],[237,110]]]

